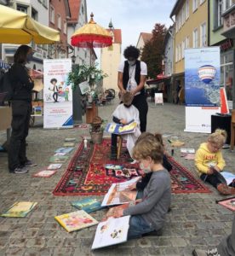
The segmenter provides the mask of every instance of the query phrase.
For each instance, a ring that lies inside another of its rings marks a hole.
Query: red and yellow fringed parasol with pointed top
[[[91,13],[89,23],[72,34],[71,44],[81,48],[103,48],[112,45],[112,36],[96,24]]]

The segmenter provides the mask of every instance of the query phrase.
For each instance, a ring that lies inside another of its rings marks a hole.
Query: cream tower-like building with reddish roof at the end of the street
[[[108,75],[103,79],[103,88],[117,91],[117,69],[121,61],[122,31],[114,29],[111,22],[108,32],[112,36],[112,45],[100,49],[100,68]]]

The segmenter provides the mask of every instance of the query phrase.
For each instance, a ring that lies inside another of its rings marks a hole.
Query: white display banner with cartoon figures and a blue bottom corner
[[[71,59],[43,61],[44,128],[73,127],[72,84],[68,84],[71,71]]]

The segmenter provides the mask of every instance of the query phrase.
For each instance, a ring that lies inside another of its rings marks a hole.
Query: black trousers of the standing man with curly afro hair
[[[140,131],[146,131],[146,117],[148,111],[148,105],[146,102],[146,96],[139,94],[134,97],[132,104],[139,110],[140,113]]]

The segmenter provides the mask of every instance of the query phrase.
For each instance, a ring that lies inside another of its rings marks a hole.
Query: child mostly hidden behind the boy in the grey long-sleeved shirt
[[[157,140],[158,143],[160,143],[163,147],[163,137],[160,133],[155,133],[155,134],[152,134],[150,132],[143,132],[140,137],[138,137],[135,145],[137,143],[140,143],[140,140],[143,139],[143,138],[146,138],[146,137],[151,137],[152,140]],[[169,163],[169,160],[167,159],[167,156],[166,154],[163,154],[163,167],[168,171],[170,172],[172,170],[172,166],[171,164]],[[130,190],[133,190],[133,189],[137,189],[138,190],[138,194],[137,194],[137,198],[140,198],[141,195],[142,195],[142,191],[145,189],[146,187],[146,184],[149,182],[150,178],[152,176],[152,172],[149,172],[149,173],[146,173],[144,177],[141,178],[141,180],[137,183],[134,183],[132,185],[129,186],[129,189]]]

